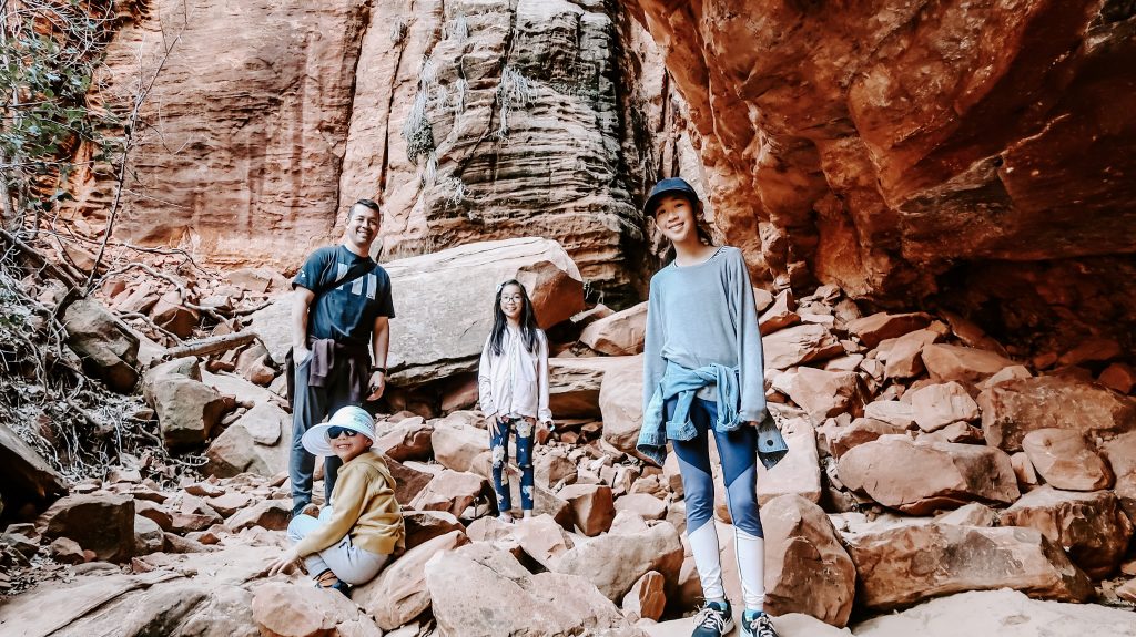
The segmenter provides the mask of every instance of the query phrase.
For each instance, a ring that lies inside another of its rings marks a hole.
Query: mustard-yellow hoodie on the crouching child
[[[340,467],[332,490],[333,515],[295,545],[301,558],[333,546],[345,535],[371,553],[390,554],[406,547],[402,510],[394,500],[394,478],[386,460],[365,451]]]

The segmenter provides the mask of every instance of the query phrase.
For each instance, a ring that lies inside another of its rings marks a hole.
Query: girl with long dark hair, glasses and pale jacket
[[[533,304],[516,280],[498,286],[493,300],[493,331],[482,349],[477,390],[490,431],[493,452],[493,489],[502,520],[512,521],[509,478],[501,474],[509,464],[509,433],[517,433],[520,467],[520,508],[533,516],[533,439],[536,422],[552,426],[549,411],[549,341],[536,326]]]

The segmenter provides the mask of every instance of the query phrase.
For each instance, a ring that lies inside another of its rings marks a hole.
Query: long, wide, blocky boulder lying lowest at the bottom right
[[[857,601],[869,609],[997,588],[1063,602],[1093,595],[1064,551],[1031,528],[913,524],[845,533],[844,541],[860,578]]]

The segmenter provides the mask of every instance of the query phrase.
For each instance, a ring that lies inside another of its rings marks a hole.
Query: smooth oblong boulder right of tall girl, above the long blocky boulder
[[[1020,495],[999,449],[885,435],[841,457],[841,482],[885,507],[922,516],[968,502],[1009,504]]]

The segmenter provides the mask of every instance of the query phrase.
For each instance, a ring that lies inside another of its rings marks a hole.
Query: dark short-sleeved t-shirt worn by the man
[[[336,284],[343,280],[349,281]],[[316,292],[308,312],[310,338],[369,347],[375,318],[394,318],[391,277],[386,270],[343,245],[314,252],[292,280],[292,287],[298,286]]]

